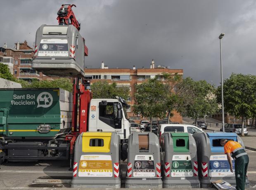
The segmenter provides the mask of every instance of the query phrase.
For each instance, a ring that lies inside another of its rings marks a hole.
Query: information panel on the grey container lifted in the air
[[[68,40],[42,39],[38,56],[69,56]]]

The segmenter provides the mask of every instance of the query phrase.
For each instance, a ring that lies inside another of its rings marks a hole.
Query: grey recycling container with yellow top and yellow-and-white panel
[[[76,139],[71,188],[121,188],[120,136],[83,132]]]

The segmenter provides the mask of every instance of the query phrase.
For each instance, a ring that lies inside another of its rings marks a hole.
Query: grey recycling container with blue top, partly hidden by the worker
[[[224,148],[220,145],[220,139],[231,139],[237,141],[244,147],[242,139],[235,133],[225,132],[198,132],[193,134],[193,137],[197,143],[198,171],[201,188],[211,187],[211,183],[216,180],[227,181],[235,186],[235,171],[233,173],[230,171]],[[233,168],[235,168],[233,159],[232,162]],[[249,187],[249,185],[249,180],[246,178],[246,186]]]

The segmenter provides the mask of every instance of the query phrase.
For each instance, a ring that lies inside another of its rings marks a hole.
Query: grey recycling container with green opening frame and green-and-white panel
[[[189,133],[164,133],[163,188],[200,188],[197,145]]]

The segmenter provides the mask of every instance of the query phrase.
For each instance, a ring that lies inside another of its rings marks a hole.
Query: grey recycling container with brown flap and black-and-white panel
[[[126,188],[162,188],[159,139],[152,132],[134,132],[128,139]]]

